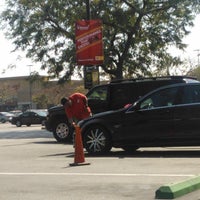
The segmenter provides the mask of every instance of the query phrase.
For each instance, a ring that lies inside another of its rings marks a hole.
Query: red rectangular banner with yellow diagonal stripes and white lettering
[[[76,22],[76,60],[78,65],[103,64],[101,20]]]

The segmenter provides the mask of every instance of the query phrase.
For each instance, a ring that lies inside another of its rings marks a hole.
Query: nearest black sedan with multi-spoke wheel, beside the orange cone
[[[112,147],[200,145],[200,82],[161,87],[127,108],[80,121],[83,145],[91,154]]]

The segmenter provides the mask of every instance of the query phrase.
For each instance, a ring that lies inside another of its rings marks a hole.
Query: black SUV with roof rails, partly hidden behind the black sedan
[[[187,76],[165,76],[112,81],[108,84],[93,87],[86,94],[92,113],[116,110],[133,103],[146,93],[165,85],[194,81]],[[48,110],[46,129],[53,132],[58,142],[71,139],[73,127],[69,126],[63,106]]]

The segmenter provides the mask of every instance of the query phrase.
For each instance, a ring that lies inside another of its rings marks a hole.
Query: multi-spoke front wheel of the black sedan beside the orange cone
[[[96,155],[108,153],[112,148],[110,133],[101,125],[85,130],[83,144],[88,153]]]

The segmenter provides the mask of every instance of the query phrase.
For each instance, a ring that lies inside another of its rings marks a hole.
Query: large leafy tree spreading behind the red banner
[[[83,0],[6,0],[2,27],[16,49],[41,62],[52,76],[65,72],[68,80],[80,70],[75,59],[75,22],[86,19]],[[167,53],[170,45],[184,49],[200,11],[200,0],[93,0],[91,18],[102,19],[104,37],[103,72],[112,78],[152,75],[167,63],[180,63]]]

